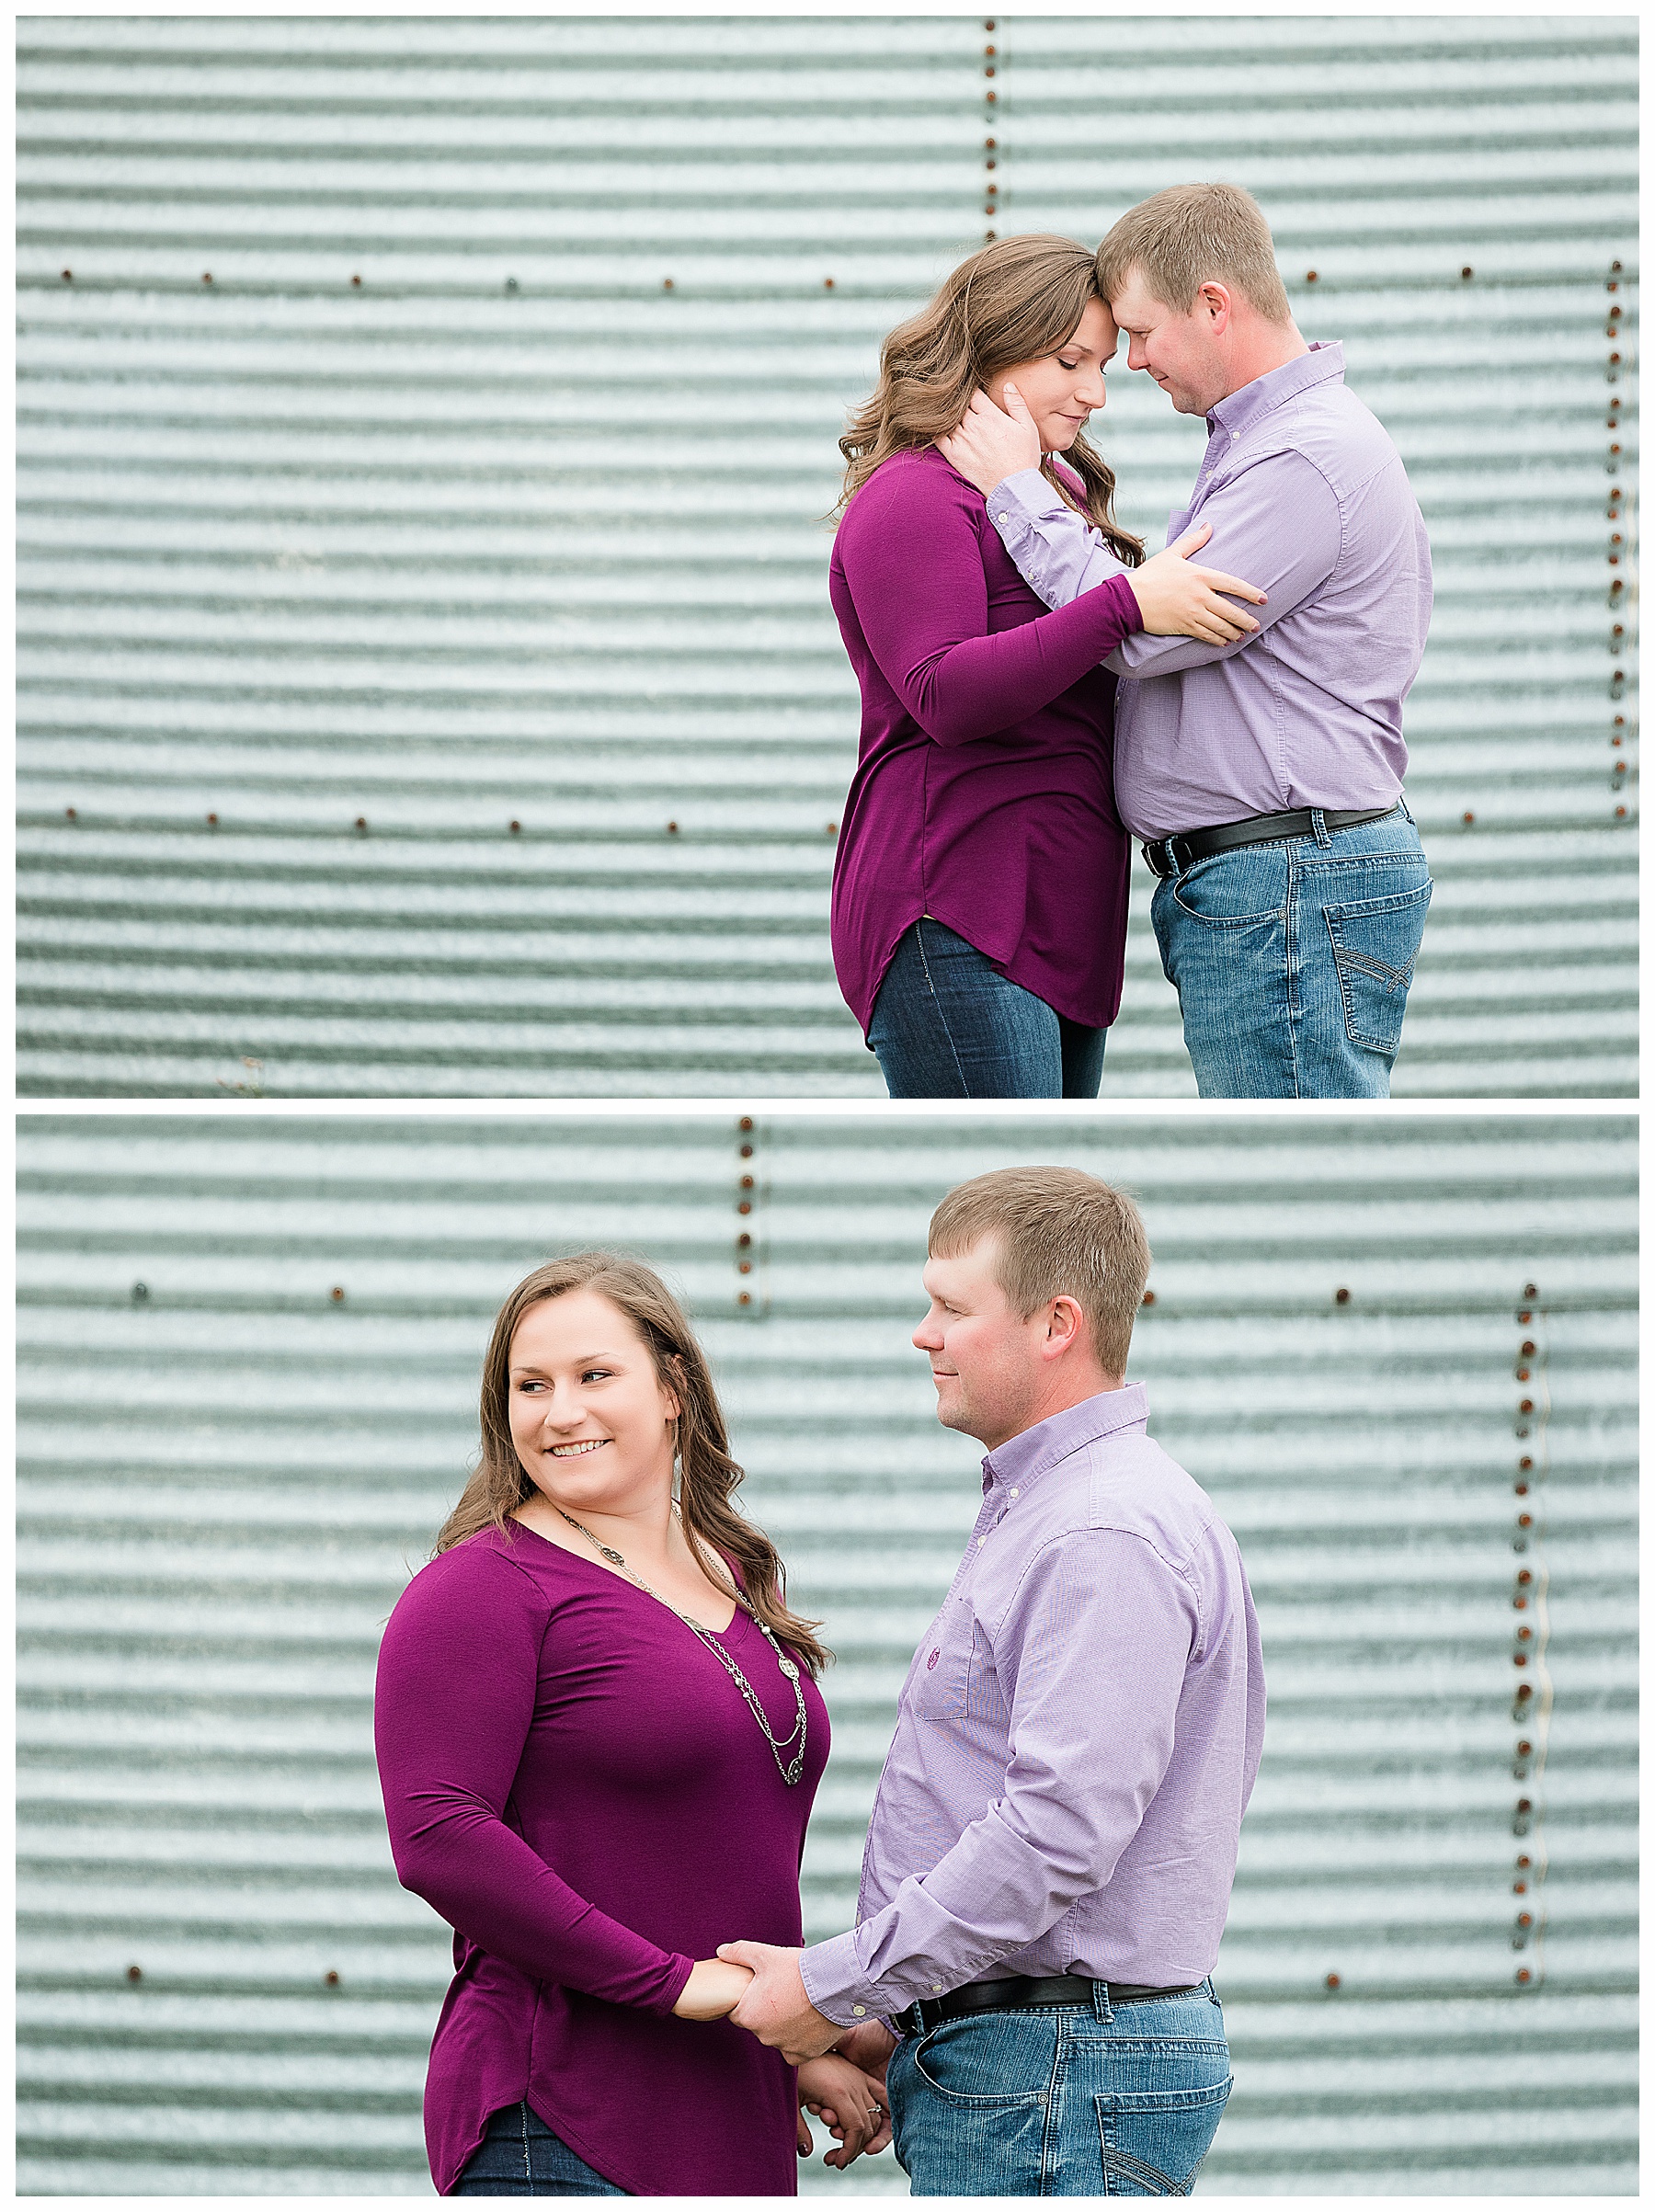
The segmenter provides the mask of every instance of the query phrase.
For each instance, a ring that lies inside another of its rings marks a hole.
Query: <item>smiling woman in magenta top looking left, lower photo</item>
[[[828,1652],[730,1498],[706,1356],[608,1252],[538,1267],[482,1367],[482,1455],[385,1630],[396,1871],[456,1929],[425,2088],[445,2197],[797,2192],[801,2101],[885,2137],[845,2059],[724,2015],[712,1953],[799,1944]]]

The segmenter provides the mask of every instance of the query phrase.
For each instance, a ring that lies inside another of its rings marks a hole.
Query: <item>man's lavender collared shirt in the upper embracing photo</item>
[[[1389,807],[1403,790],[1403,699],[1432,622],[1432,549],[1403,458],[1345,389],[1343,345],[1312,345],[1206,418],[1208,445],[1170,544],[1270,595],[1235,646],[1128,637],[1106,668],[1115,803],[1142,838],[1286,807]],[[989,515],[1049,606],[1122,573],[1038,469],[1009,476]]]

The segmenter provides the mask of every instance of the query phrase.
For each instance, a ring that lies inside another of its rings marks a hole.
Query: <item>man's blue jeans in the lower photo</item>
[[[1230,2095],[1212,1984],[967,2013],[885,2070],[912,2197],[1188,2197]]]

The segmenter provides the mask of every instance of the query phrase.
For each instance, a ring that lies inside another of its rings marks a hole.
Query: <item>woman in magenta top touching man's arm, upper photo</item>
[[[834,967],[892,1097],[1097,1097],[1128,860],[1100,661],[1131,630],[1228,644],[1257,628],[1219,593],[1261,593],[1190,566],[1206,529],[1146,562],[1113,520],[1115,478],[1082,429],[1115,338],[1084,246],[1000,239],[892,332],[839,440],[830,593],[863,734]],[[1053,615],[934,445],[974,392],[1005,405],[1007,383],[1040,427],[1044,473],[1133,566]]]

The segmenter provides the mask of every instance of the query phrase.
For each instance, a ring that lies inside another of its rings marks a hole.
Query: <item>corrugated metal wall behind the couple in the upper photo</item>
[[[1438,555],[1396,1091],[1628,1095],[1635,75],[1628,15],[27,20],[24,1088],[878,1095],[843,409],[985,230],[1219,170]],[[1104,1082],[1166,1095],[1146,889]]]

